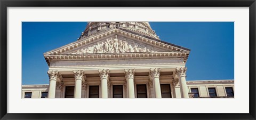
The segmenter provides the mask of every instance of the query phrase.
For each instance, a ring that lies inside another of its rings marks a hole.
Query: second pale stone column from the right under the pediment
[[[155,68],[149,70],[149,77],[153,81],[153,87],[155,92],[155,98],[162,98],[161,86],[159,81],[161,68]]]

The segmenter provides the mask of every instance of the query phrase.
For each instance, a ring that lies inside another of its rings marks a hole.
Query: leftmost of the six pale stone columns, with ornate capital
[[[49,84],[49,92],[48,92],[48,98],[55,98],[55,90],[56,90],[56,81],[57,76],[59,72],[56,71],[47,71],[47,74],[49,75],[50,84]]]

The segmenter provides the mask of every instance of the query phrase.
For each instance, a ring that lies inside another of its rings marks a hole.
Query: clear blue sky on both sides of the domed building
[[[75,42],[87,22],[22,22],[22,84],[49,84],[43,53]],[[234,22],[150,22],[162,41],[187,47],[187,81],[234,79]]]

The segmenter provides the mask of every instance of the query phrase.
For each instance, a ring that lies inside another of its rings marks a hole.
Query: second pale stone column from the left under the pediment
[[[75,91],[74,91],[74,98],[81,98],[82,96],[82,80],[84,70],[74,70],[74,77],[75,77]]]

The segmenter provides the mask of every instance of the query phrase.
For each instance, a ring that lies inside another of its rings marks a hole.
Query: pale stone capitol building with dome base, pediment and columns
[[[234,98],[233,79],[186,81],[189,53],[149,22],[88,22],[44,53],[49,84],[22,85],[22,98]]]

